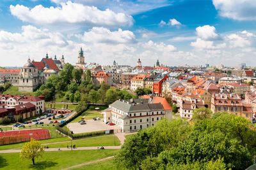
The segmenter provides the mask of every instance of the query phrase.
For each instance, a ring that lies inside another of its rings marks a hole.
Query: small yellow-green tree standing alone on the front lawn
[[[30,159],[35,165],[35,158],[43,156],[44,149],[39,141],[35,141],[31,138],[31,141],[25,143],[20,152],[20,158]]]

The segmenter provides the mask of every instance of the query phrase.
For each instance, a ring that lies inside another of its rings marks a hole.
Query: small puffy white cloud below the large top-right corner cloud
[[[214,40],[219,38],[219,35],[217,34],[215,27],[210,25],[197,27],[196,34],[204,40]]]

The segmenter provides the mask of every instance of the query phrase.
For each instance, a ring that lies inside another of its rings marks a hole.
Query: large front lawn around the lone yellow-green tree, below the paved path
[[[28,159],[20,159],[19,153],[1,153],[0,169],[63,169],[84,162],[115,155],[118,150],[73,150],[45,152],[35,159],[35,166]]]

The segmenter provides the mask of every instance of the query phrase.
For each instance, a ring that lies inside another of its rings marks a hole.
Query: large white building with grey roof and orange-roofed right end
[[[172,118],[172,107],[163,97],[118,100],[103,112],[104,122],[112,122],[122,132],[138,131],[155,125],[162,118]]]

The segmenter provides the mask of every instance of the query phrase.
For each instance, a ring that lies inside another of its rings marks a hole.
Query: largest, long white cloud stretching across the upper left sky
[[[10,6],[12,15],[24,22],[33,24],[83,24],[86,26],[125,26],[132,25],[133,18],[131,15],[124,13],[115,13],[109,9],[99,10],[95,6],[84,6],[83,4],[61,3],[61,7],[45,8],[42,5],[29,9],[26,6],[17,4]]]

